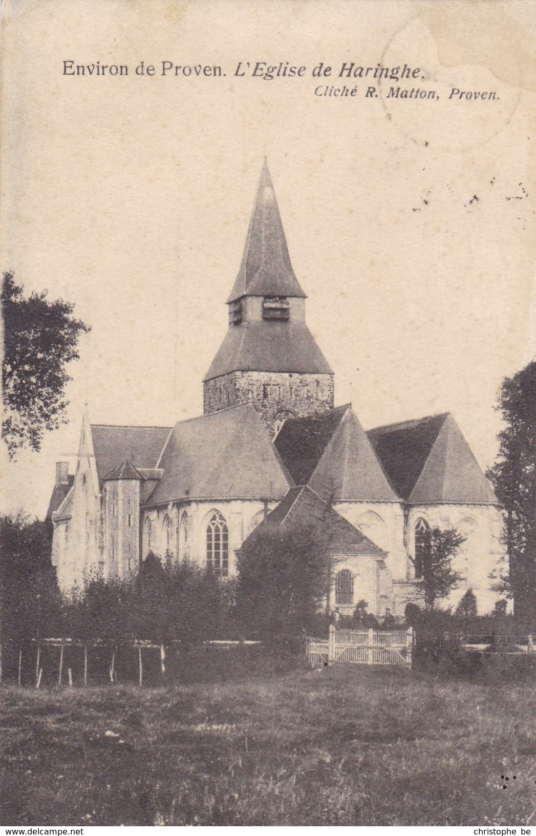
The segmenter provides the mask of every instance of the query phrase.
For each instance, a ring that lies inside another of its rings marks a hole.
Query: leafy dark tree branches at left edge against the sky
[[[38,451],[44,431],[65,422],[64,390],[71,379],[64,366],[78,359],[78,338],[89,328],[73,319],[72,304],[62,299],[51,302],[46,291],[25,298],[13,273],[3,274],[1,299],[2,436],[13,459],[23,446]]]

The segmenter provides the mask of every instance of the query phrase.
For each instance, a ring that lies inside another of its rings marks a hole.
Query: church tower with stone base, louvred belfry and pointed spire
[[[203,381],[205,415],[251,403],[272,438],[286,418],[333,408],[333,372],[306,325],[266,163],[235,285],[229,330]]]

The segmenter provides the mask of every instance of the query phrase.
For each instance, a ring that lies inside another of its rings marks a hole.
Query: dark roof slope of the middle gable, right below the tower
[[[287,418],[274,444],[296,485],[309,482],[347,409],[346,404],[309,418]]]

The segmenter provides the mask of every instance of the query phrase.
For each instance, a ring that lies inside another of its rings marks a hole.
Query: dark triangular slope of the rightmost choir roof
[[[368,431],[372,446],[402,499],[409,499],[447,418],[445,412]]]

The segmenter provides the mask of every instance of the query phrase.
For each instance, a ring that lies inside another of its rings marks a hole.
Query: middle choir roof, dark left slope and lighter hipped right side
[[[399,499],[351,405],[287,419],[275,444],[294,481],[306,482],[324,499]]]

